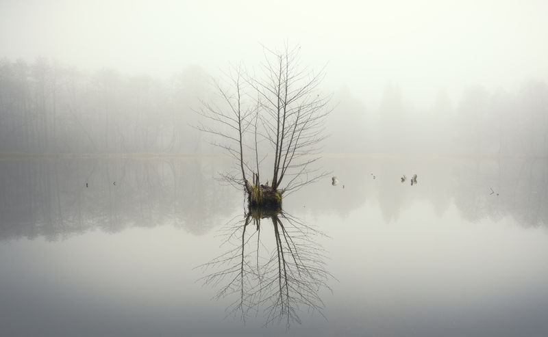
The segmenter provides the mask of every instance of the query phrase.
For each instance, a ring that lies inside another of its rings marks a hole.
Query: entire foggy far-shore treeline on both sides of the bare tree
[[[212,94],[208,81],[197,66],[160,81],[108,69],[81,72],[44,58],[2,59],[0,152],[211,152],[191,127],[192,108]],[[440,94],[426,109],[406,104],[395,85],[386,87],[379,111],[344,90],[334,103],[327,152],[548,153],[548,86],[540,81],[516,92],[471,88],[455,103]]]

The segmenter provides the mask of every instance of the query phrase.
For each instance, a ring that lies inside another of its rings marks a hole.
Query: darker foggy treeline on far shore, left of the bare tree
[[[159,81],[2,59],[0,152],[196,152],[188,124],[206,83],[197,67]]]

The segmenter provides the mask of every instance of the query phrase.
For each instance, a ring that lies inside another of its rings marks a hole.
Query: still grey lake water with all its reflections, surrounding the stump
[[[0,335],[548,336],[545,159],[331,157],[258,226],[230,165],[0,161]]]

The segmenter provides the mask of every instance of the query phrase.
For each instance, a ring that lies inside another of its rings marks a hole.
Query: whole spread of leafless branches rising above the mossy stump
[[[202,101],[199,113],[208,123],[198,129],[218,136],[213,144],[238,163],[238,174],[225,178],[248,192],[264,178],[262,141],[273,151],[272,171],[263,180],[270,181],[274,191],[295,191],[325,175],[310,164],[319,159],[332,96],[319,91],[324,69],[314,72],[302,66],[299,51],[298,46],[282,51],[264,48],[256,72],[232,68],[223,81],[214,81],[219,99]]]

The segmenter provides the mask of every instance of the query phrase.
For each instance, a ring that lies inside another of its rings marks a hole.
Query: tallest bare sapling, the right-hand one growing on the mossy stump
[[[260,77],[248,81],[258,92],[262,108],[261,121],[266,139],[274,148],[272,188],[279,189],[288,177],[283,191],[298,189],[324,176],[309,165],[319,159],[319,144],[325,118],[331,112],[332,96],[323,96],[319,85],[325,68],[314,72],[301,66],[300,46],[282,51],[264,48]]]

